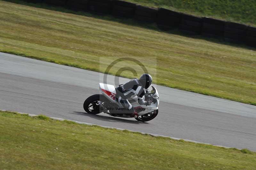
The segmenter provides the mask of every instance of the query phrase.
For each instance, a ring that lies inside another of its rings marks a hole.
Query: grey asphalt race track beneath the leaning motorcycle
[[[0,109],[44,114],[256,151],[256,106],[156,86],[158,116],[149,122],[84,112],[102,73],[0,53]],[[114,76],[108,75],[108,81]],[[120,78],[120,83],[128,79]],[[1,121],[1,120],[0,120]]]

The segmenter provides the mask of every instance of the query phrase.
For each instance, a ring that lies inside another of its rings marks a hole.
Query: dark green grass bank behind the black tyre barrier
[[[150,7],[163,7],[197,16],[235,21],[256,26],[254,0],[125,0]]]

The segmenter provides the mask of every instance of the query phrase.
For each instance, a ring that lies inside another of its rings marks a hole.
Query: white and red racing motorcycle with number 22
[[[116,98],[116,88],[110,84],[99,83],[100,92],[88,97],[84,101],[84,111],[91,114],[107,113],[111,116],[122,118],[135,118],[138,121],[146,122],[154,119],[158,114],[159,95],[154,86],[145,89],[143,100],[147,105],[140,105],[136,95],[128,99],[132,104],[132,109],[136,113],[124,113],[124,107],[118,103]]]

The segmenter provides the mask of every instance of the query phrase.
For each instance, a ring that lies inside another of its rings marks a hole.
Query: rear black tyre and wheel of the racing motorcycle
[[[84,111],[91,114],[99,114],[103,112],[100,110],[100,106],[96,105],[97,101],[105,101],[105,97],[101,94],[96,94],[88,97],[84,101]]]

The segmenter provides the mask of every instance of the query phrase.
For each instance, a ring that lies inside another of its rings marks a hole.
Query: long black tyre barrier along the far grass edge
[[[24,0],[46,3],[76,11],[111,14],[156,23],[160,29],[179,29],[188,35],[203,35],[256,47],[256,27],[208,17],[196,17],[164,8],[149,8],[121,0]]]

